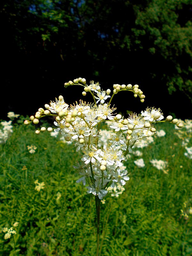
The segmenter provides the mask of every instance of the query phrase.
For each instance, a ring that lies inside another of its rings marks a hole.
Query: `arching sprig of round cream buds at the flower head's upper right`
[[[138,84],[135,84],[134,86],[132,86],[131,84],[127,84],[127,86],[125,84],[113,84],[113,93],[114,94],[117,94],[119,91],[125,91],[125,90],[128,90],[128,91],[132,91],[134,93],[134,97],[136,98],[137,96],[140,97],[140,101],[141,102],[144,102],[144,98],[145,98],[145,95],[143,94],[142,90],[139,89],[139,85]]]

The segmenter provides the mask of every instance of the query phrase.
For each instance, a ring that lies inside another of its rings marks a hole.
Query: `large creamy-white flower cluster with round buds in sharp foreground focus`
[[[80,175],[77,182],[87,186],[87,193],[102,199],[109,187],[124,186],[129,180],[128,171],[122,168],[123,161],[126,161],[127,154],[133,152],[132,148],[138,141],[146,141],[156,134],[156,122],[172,122],[177,127],[182,127],[182,124],[176,119],[172,120],[171,116],[163,121],[163,113],[156,108],[147,108],[141,115],[130,114],[128,118],[114,113],[116,108],[111,107],[111,100],[120,91],[131,91],[134,97],[144,101],[145,96],[138,85],[114,84],[113,94],[110,96],[110,89],[104,91],[94,81],[86,84],[86,80],[81,77],[65,83],[65,87],[74,84],[84,87],[82,95],[90,93],[94,103],[80,100],[69,106],[60,95],[55,102],[45,104],[45,109],[39,108],[35,116],[24,123],[38,124],[39,119],[44,116],[55,116],[54,124],[57,128],[49,127],[47,130],[60,132],[66,141],[75,145],[76,151],[81,151],[81,162],[74,166]],[[101,142],[102,122],[110,122],[113,131],[106,139],[107,144]],[[45,130],[42,127],[36,130],[36,134]]]

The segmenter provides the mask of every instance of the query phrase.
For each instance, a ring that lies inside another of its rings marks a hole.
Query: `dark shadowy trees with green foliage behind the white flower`
[[[73,104],[82,77],[103,89],[138,84],[112,101],[117,112],[147,106],[192,119],[192,5],[186,1],[2,1],[1,101],[3,111],[32,115],[63,95]],[[191,65],[191,66],[190,66]],[[111,94],[112,95],[112,94]]]

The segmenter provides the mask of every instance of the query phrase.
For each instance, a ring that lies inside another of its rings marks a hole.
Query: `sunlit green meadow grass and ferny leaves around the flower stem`
[[[134,160],[141,157],[132,155],[125,191],[117,198],[108,193],[101,204],[101,256],[192,255],[192,215],[185,219],[180,211],[192,206],[192,160],[174,125],[156,127],[166,135],[140,149],[145,167],[138,168]],[[35,153],[27,145],[35,145]],[[76,183],[73,165],[81,156],[73,145],[15,123],[0,156],[0,227],[19,222],[10,239],[0,234],[0,255],[95,256],[95,198]],[[168,174],[151,159],[167,161]],[[39,192],[36,180],[45,182]]]

